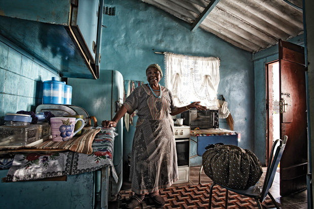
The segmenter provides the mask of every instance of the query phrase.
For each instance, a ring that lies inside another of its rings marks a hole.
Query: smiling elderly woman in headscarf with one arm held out
[[[165,204],[159,189],[167,188],[178,180],[174,124],[171,115],[177,115],[190,108],[205,110],[200,102],[184,107],[173,104],[171,92],[159,81],[163,71],[158,64],[146,69],[148,84],[136,88],[117,111],[112,120],[102,121],[104,127],[115,127],[126,112],[137,110],[138,120],[134,134],[130,181],[135,193],[127,202],[127,208],[135,208],[145,194],[156,207]]]

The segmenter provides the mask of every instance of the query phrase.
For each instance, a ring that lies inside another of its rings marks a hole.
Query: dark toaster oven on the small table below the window
[[[190,109],[181,113],[184,126],[192,129],[217,129],[219,128],[219,110]]]

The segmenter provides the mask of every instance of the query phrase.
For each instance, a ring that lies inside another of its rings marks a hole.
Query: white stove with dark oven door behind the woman
[[[174,137],[176,140],[178,175],[179,179],[174,184],[189,181],[190,166],[190,127],[175,126]]]

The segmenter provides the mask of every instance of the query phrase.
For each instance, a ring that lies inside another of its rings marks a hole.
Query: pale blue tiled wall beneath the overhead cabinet
[[[43,81],[60,76],[16,46],[0,40],[0,124],[6,113],[33,111],[42,104]]]

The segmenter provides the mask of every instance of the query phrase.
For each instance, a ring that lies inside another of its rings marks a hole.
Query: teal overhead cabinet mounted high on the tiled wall
[[[103,0],[0,1],[0,35],[60,73],[99,77]]]

